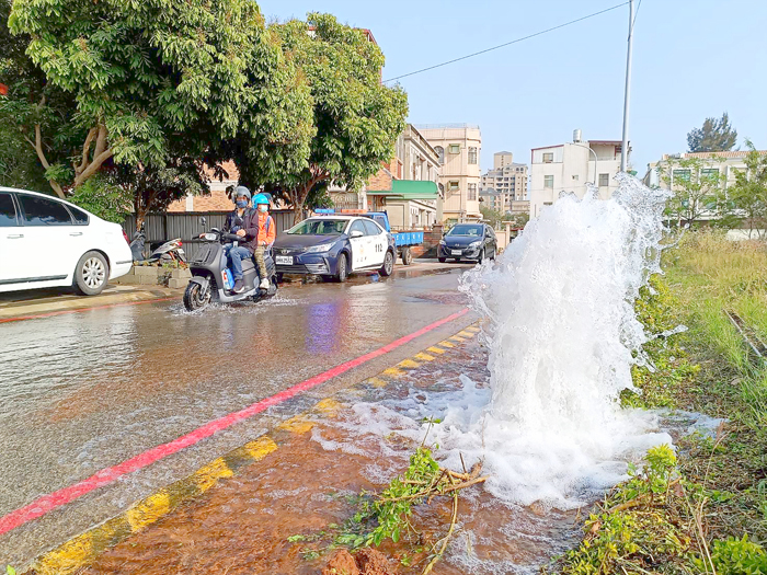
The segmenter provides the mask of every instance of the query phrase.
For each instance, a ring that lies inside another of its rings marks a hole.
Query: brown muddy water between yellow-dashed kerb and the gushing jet
[[[110,550],[84,573],[320,573],[333,553],[332,536],[323,533],[354,515],[363,490],[380,491],[402,473],[420,445],[397,433],[420,428],[420,422],[407,421],[413,402],[428,410],[433,398],[436,405],[437,395],[450,396],[461,386],[459,371],[485,384],[485,350],[471,341],[386,388],[340,396],[333,418],[310,419],[311,429],[298,426],[302,433],[290,434],[266,459]],[[359,425],[369,415],[384,436]],[[458,529],[436,572],[534,573],[577,540],[577,514],[510,506],[482,486],[471,487],[461,495]],[[423,505],[412,518],[419,533],[379,549],[398,573],[421,573],[428,561],[424,550],[445,534],[449,520],[449,501]],[[291,536],[308,541],[290,542]]]

